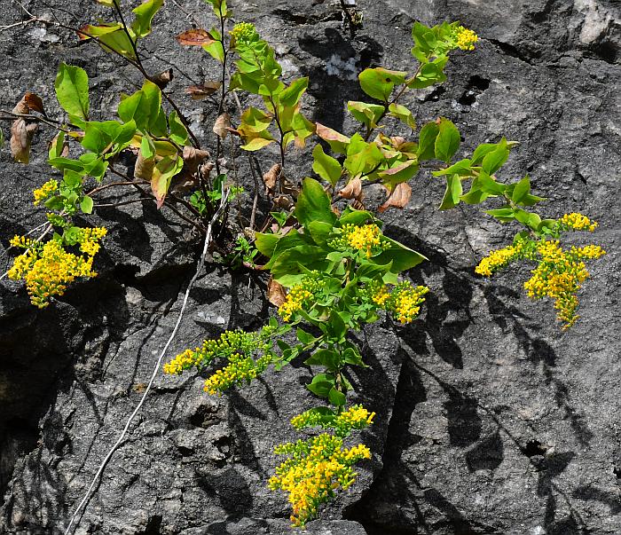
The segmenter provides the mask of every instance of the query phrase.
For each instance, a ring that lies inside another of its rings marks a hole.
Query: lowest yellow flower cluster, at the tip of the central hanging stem
[[[289,493],[293,506],[291,522],[303,526],[317,515],[318,507],[334,497],[339,488],[347,490],[356,480],[352,466],[370,459],[366,445],[343,449],[342,438],[322,433],[310,440],[279,445],[274,452],[289,455],[270,479],[272,491]]]

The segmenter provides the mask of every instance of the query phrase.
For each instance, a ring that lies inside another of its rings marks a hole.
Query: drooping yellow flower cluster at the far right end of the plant
[[[524,288],[531,299],[554,299],[557,318],[564,322],[562,328],[568,329],[578,319],[576,292],[589,276],[583,260],[599,258],[606,252],[595,245],[564,251],[557,240],[539,242],[537,252],[538,266],[531,271],[532,277],[524,283]]]

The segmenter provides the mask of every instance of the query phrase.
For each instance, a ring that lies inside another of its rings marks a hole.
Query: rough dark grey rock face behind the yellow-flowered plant
[[[1,24],[28,19],[18,3],[6,4]],[[95,3],[52,4],[58,9],[37,0],[24,6],[75,26],[105,13]],[[364,28],[353,37],[342,28],[338,2],[230,4],[237,20],[255,22],[271,41],[287,77],[311,77],[304,100],[311,118],[345,133],[355,124],[344,102],[365,99],[356,81],[361,69],[412,70],[414,20],[461,20],[476,29],[477,51],[453,56],[449,82],[406,104],[418,122],[438,115],[455,122],[463,153],[503,135],[519,141],[503,177],[528,172],[549,199],[548,216],[582,211],[599,221],[593,237],[577,233],[573,240],[594,238],[609,251],[591,266],[582,318],[563,334],[551,303],[523,294],[524,268],[491,281],[474,275],[478,259],[507,244],[515,228],[470,207],[438,212],[444,186],[421,173],[411,204],[385,214],[386,232],[428,256],[409,275],[432,293],[412,327],[386,322],[366,332],[372,368],[352,380],[358,399],[378,413],[364,437],[374,458],[308,532],[621,532],[617,1],[358,0]],[[174,42],[192,24],[178,5],[200,25],[213,24],[198,0],[168,2],[147,41],[149,66],[162,70],[167,60],[194,80],[209,78],[207,56]],[[50,25],[0,33],[0,54],[3,109],[32,90],[57,114],[60,60],[88,71],[98,118],[109,118],[119,92],[138,83],[130,67],[90,45],[76,47],[71,32]],[[172,89],[209,144],[214,111],[186,98],[185,83],[177,74]],[[3,247],[43,221],[30,201],[50,174],[47,138],[35,138],[29,167],[12,163],[3,148]],[[263,158],[267,169],[271,154]],[[295,155],[289,172],[308,174],[308,152]],[[97,279],[44,311],[30,307],[18,285],[0,286],[3,533],[64,530],[137,405],[195,269],[199,240],[173,214],[145,204],[101,208],[98,217],[110,236]],[[3,256],[3,271],[8,265]],[[260,327],[271,313],[263,283],[208,264],[169,356],[224,328]],[[202,393],[200,377],[159,376],[76,532],[289,532],[287,501],[265,484],[276,462],[273,445],[295,438],[288,419],[311,406],[303,388],[308,377],[305,367],[291,366],[253,388],[212,398]]]

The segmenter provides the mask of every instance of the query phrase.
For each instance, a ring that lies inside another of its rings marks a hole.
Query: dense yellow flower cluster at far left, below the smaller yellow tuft
[[[24,279],[30,301],[39,308],[46,307],[52,295],[63,295],[67,286],[78,277],[95,277],[93,257],[68,253],[57,240],[43,248],[29,248],[15,258],[9,278]]]

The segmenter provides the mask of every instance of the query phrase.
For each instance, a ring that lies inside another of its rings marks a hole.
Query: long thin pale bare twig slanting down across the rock
[[[69,533],[72,532],[71,528],[74,525],[75,518],[80,513],[82,508],[85,507],[86,504],[88,503],[88,501],[90,499],[90,496],[91,496],[91,493],[93,492],[95,486],[97,485],[99,477],[103,474],[104,469],[106,468],[106,465],[107,465],[108,461],[112,458],[112,456],[114,455],[114,452],[116,451],[116,449],[120,445],[122,445],[122,442],[123,442],[125,436],[127,435],[128,430],[130,429],[131,422],[134,421],[134,418],[136,417],[136,415],[138,414],[138,412],[142,408],[142,405],[145,404],[146,397],[149,394],[149,391],[151,390],[151,388],[153,387],[153,382],[155,382],[155,378],[157,377],[158,371],[160,370],[161,361],[163,360],[164,356],[166,355],[166,352],[169,350],[170,344],[172,343],[172,341],[174,340],[175,336],[177,335],[177,331],[179,330],[179,326],[181,325],[181,320],[184,317],[185,307],[187,306],[187,302],[188,302],[188,299],[190,297],[190,291],[192,290],[192,287],[194,286],[194,283],[196,282],[196,279],[199,278],[200,271],[202,271],[202,268],[205,265],[205,256],[207,255],[209,243],[211,242],[211,232],[212,232],[213,224],[216,222],[216,218],[217,218],[217,216],[219,216],[220,211],[227,204],[227,199],[228,199],[228,194],[225,195],[222,198],[222,200],[220,201],[220,207],[216,210],[216,213],[211,218],[211,221],[208,224],[207,235],[205,236],[205,243],[203,245],[202,252],[200,254],[199,264],[198,264],[198,266],[196,268],[196,271],[194,272],[193,278],[190,280],[190,283],[188,284],[187,288],[185,289],[184,301],[183,301],[183,303],[181,305],[181,311],[179,311],[179,316],[177,317],[177,322],[175,323],[175,327],[173,328],[172,333],[170,334],[169,339],[166,342],[166,345],[164,345],[164,348],[161,350],[160,357],[157,359],[157,362],[155,363],[155,366],[153,366],[153,373],[151,374],[151,379],[149,380],[148,384],[146,385],[145,393],[140,398],[140,401],[139,401],[138,405],[136,406],[136,408],[134,409],[134,412],[130,414],[130,417],[125,422],[125,427],[122,429],[121,435],[118,437],[118,439],[116,440],[114,445],[110,448],[110,450],[107,452],[106,457],[104,457],[104,460],[101,461],[101,464],[99,465],[99,468],[98,468],[97,472],[95,473],[95,476],[93,476],[92,480],[90,481],[90,486],[89,486],[88,490],[86,491],[86,493],[84,494],[83,500],[80,501],[80,503],[78,504],[77,507],[75,507],[74,514],[71,515],[71,518],[69,519],[69,523],[67,525],[67,529],[65,530],[65,535],[69,535]],[[75,527],[77,527],[77,523],[75,524]]]

